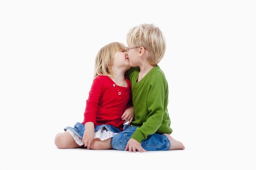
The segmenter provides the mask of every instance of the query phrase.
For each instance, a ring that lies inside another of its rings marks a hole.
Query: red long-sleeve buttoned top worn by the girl
[[[109,124],[122,130],[121,116],[131,105],[131,84],[126,79],[127,87],[116,85],[108,76],[94,79],[84,111],[83,124],[88,121],[95,126]]]

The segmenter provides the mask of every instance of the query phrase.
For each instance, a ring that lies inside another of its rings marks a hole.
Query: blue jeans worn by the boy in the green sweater
[[[131,138],[137,127],[125,124],[123,131],[111,140],[111,146],[114,150],[124,151],[128,140]],[[169,151],[171,142],[167,136],[163,134],[149,135],[145,140],[141,141],[141,147],[147,151]]]

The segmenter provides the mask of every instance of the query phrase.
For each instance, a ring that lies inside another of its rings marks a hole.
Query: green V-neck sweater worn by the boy
[[[138,127],[131,138],[139,143],[154,133],[171,134],[169,118],[168,84],[163,71],[157,65],[152,68],[139,82],[139,67],[126,71],[132,84],[134,119],[133,126]]]

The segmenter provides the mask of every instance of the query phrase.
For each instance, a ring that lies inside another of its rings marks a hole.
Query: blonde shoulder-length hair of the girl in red
[[[112,42],[98,51],[95,59],[94,78],[98,75],[113,76],[114,55],[120,50],[126,51],[125,46],[119,42]]]

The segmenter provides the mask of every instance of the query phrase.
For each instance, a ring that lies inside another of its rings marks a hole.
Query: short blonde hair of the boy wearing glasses
[[[164,56],[165,38],[154,24],[141,24],[132,28],[127,34],[127,44],[144,47],[148,51],[148,62],[158,64]]]

